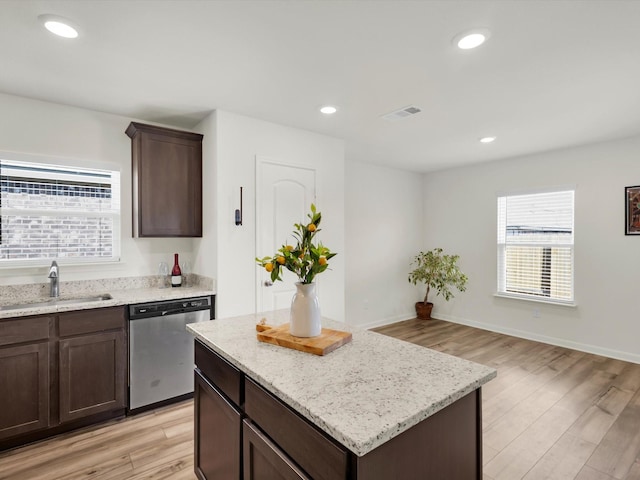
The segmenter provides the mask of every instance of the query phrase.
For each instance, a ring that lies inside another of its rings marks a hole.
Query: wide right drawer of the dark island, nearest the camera
[[[248,378],[245,413],[310,477],[348,478],[347,450]]]

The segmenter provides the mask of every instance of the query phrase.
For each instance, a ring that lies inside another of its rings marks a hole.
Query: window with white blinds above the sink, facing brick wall
[[[119,259],[119,171],[0,159],[0,190],[0,266]]]

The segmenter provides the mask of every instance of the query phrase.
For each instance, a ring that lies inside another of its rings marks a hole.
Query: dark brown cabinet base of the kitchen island
[[[200,480],[482,479],[480,389],[357,456],[198,340],[195,360]]]

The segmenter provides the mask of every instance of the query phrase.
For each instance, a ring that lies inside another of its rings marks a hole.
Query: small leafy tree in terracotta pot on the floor
[[[466,290],[467,276],[457,265],[459,258],[459,255],[444,254],[441,248],[420,252],[415,256],[412,265],[415,264],[416,268],[409,273],[409,282],[414,285],[418,283],[427,285],[424,300],[416,303],[416,314],[419,319],[431,319],[433,303],[428,299],[432,288],[437,291],[437,295],[442,295],[447,301],[453,298],[452,287],[461,292]]]

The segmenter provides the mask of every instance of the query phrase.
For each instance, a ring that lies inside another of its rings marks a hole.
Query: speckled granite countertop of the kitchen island
[[[363,456],[496,376],[493,368],[351,327],[326,356],[259,342],[255,326],[288,310],[211,320],[187,330],[358,456]]]

